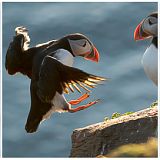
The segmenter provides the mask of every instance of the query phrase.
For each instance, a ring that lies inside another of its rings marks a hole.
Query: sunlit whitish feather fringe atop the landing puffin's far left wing
[[[25,28],[23,26],[16,27],[15,32],[16,32],[16,36],[19,35],[19,34],[23,34],[23,36],[24,36],[23,49],[27,50],[29,48],[29,44],[30,44],[30,38],[29,38],[29,35],[28,35],[27,28]]]

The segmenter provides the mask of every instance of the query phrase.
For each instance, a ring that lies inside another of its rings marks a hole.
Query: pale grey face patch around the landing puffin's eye
[[[86,53],[89,54],[92,50],[91,45],[86,39],[80,39],[80,40],[68,39],[68,42],[75,56],[80,56],[80,55],[85,56]]]

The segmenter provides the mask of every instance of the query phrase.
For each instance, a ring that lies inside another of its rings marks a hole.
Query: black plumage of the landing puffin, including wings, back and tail
[[[86,73],[77,68],[69,67],[57,61],[56,51],[63,48],[73,56],[67,39],[85,38],[82,34],[70,34],[59,40],[52,40],[44,44],[29,48],[30,38],[27,29],[16,28],[16,36],[10,43],[6,54],[5,67],[9,74],[20,72],[31,79],[31,108],[26,123],[27,132],[35,132],[43,120],[43,116],[52,108],[55,93],[68,93],[74,89],[81,92],[77,84],[89,91],[105,78]],[[87,87],[86,87],[87,86]],[[74,89],[73,89],[74,88]],[[65,109],[65,108],[64,108]]]

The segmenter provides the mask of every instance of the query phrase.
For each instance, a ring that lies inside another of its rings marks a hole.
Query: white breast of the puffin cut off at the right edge
[[[142,64],[148,78],[158,85],[158,50],[153,44],[145,51]]]

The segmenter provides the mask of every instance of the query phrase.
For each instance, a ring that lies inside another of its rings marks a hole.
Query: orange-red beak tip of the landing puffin
[[[85,56],[85,59],[90,60],[90,61],[94,61],[94,62],[98,62],[99,61],[99,52],[97,50],[96,47],[93,47],[93,51],[88,54],[87,56]]]

